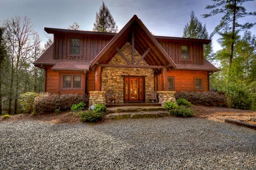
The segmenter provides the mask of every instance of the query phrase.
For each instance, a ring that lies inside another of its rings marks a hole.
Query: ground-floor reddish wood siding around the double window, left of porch
[[[46,92],[57,94],[85,94],[85,74],[84,71],[53,71],[51,67],[46,68]],[[63,75],[81,75],[81,88],[64,89],[61,76]]]

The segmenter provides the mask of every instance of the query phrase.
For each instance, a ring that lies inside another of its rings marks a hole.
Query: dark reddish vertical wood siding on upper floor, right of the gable
[[[204,51],[203,44],[183,41],[159,40],[159,44],[175,63],[203,65]],[[181,45],[188,45],[189,59],[181,59]]]

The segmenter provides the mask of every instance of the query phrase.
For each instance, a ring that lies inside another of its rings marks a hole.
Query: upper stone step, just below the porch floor
[[[164,107],[115,107],[107,108],[106,114],[120,113],[120,112],[141,112],[141,111],[164,111]]]

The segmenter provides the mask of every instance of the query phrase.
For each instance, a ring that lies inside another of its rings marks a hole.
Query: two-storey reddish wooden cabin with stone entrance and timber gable
[[[154,36],[133,18],[118,33],[44,28],[53,44],[35,62],[45,91],[109,91],[117,103],[147,101],[152,91],[209,91],[218,69],[204,58],[210,40]]]

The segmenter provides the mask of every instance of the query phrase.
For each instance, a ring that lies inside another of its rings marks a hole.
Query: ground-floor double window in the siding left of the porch
[[[63,88],[81,88],[81,75],[63,75]]]

